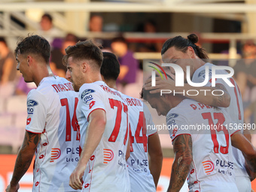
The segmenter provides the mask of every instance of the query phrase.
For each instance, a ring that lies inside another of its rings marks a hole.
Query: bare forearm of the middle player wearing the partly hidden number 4
[[[158,180],[160,178],[162,163],[163,163],[163,156],[155,157],[151,155],[150,162],[149,162],[149,169],[151,171],[151,175],[154,178],[154,184],[156,187],[158,184]]]

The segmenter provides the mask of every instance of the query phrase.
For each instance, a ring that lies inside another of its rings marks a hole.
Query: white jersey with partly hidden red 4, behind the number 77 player
[[[121,93],[122,94],[122,93]],[[154,125],[146,105],[139,99],[122,94],[130,115],[130,157],[127,160],[131,192],[155,192],[154,178],[148,167],[148,136],[157,130],[147,129]]]

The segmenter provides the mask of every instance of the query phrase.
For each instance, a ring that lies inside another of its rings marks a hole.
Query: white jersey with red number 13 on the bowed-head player
[[[186,113],[184,113],[186,111]],[[233,123],[226,111],[184,99],[166,115],[172,142],[177,136],[192,138],[193,161],[187,184],[190,191],[238,191],[230,135]],[[222,126],[223,124],[223,126]]]

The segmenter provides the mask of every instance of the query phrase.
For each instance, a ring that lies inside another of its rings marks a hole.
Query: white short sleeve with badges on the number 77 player
[[[79,99],[81,99],[81,110],[84,113],[84,116],[90,116],[90,113],[95,111],[96,109],[105,110],[104,99],[102,92],[96,87],[92,87],[89,84],[84,85],[82,90],[80,91]],[[89,121],[89,120],[88,120]]]

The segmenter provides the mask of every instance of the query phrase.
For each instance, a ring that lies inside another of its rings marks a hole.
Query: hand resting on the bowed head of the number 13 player
[[[151,86],[151,78],[148,78],[148,80],[145,82],[145,90],[151,90],[150,93],[160,93],[161,90],[175,90],[175,81],[168,78],[167,80],[161,77],[156,77],[156,86]]]

